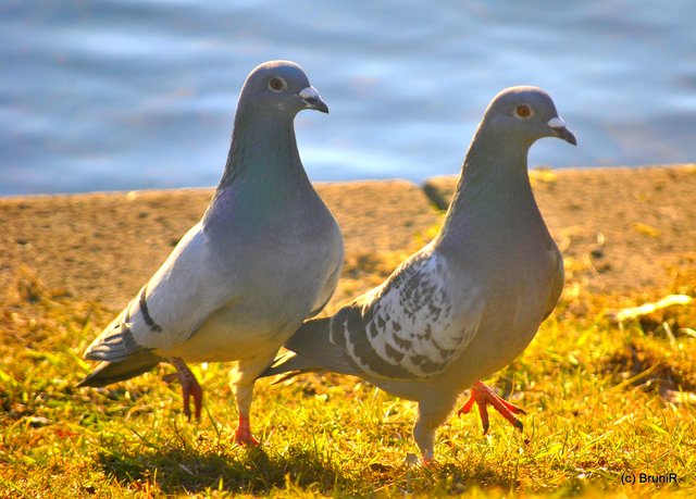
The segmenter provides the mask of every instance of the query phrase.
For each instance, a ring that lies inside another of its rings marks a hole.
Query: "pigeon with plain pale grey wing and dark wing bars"
[[[239,361],[238,444],[257,444],[253,382],[333,295],[344,260],[336,220],[310,184],[295,140],[303,109],[328,108],[300,66],[256,67],[239,96],[225,171],[202,220],[85,352],[102,361],[78,386],[103,386],[171,362],[184,412],[202,391],[185,362]]]

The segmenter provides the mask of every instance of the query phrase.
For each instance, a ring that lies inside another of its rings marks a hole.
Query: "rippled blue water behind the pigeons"
[[[300,63],[314,180],[458,173],[490,98],[554,97],[580,146],[530,164],[696,161],[696,2],[0,3],[0,195],[212,186],[239,88]]]

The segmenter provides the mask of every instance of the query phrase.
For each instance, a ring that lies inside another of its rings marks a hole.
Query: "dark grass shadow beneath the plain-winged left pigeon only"
[[[356,484],[336,471],[331,462],[304,449],[289,448],[284,456],[261,448],[236,449],[231,453],[201,453],[169,449],[141,454],[101,454],[107,475],[136,488],[156,483],[164,494],[200,492],[207,489],[268,494],[288,483],[303,489],[333,494]]]

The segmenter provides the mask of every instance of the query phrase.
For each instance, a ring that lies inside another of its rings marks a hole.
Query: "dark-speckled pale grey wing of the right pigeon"
[[[333,317],[332,341],[374,376],[436,376],[471,341],[483,310],[475,297],[469,300],[469,310],[453,303],[449,277],[447,262],[437,252],[417,253],[384,285]],[[464,327],[456,321],[462,312]]]

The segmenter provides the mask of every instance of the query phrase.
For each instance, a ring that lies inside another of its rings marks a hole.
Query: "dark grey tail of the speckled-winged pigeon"
[[[285,354],[266,369],[261,376],[291,373],[283,379],[310,371],[333,371],[360,375],[360,370],[346,352],[331,340],[331,319],[308,321],[290,337],[285,348],[295,352]]]

